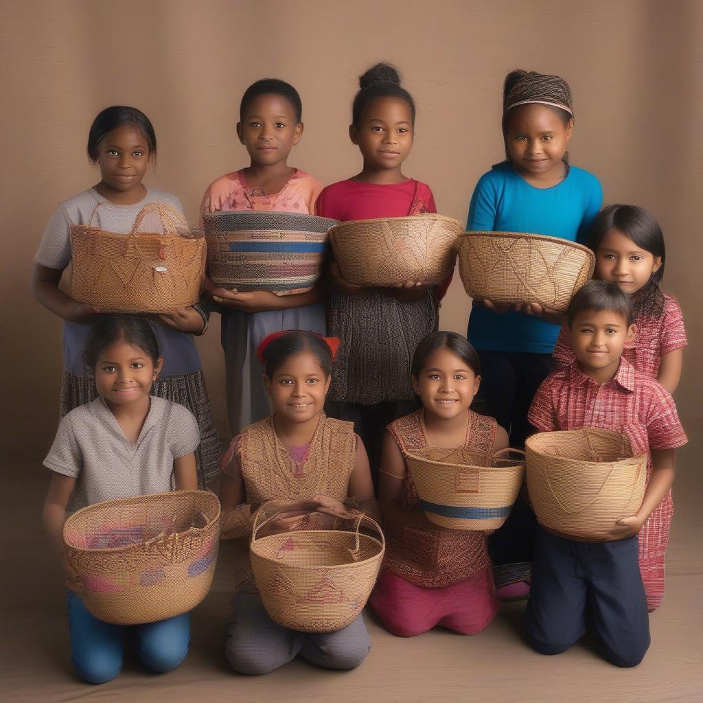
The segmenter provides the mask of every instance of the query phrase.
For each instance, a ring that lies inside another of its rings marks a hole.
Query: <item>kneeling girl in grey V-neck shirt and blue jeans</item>
[[[44,526],[66,576],[73,666],[84,681],[104,683],[120,673],[128,629],[143,664],[158,672],[176,669],[188,652],[190,616],[125,628],[91,615],[81,598],[83,584],[65,557],[63,523],[93,503],[197,489],[200,431],[191,411],[150,395],[165,361],[146,320],[101,318],[89,332],[84,361],[98,397],[65,415],[44,460],[51,471]]]

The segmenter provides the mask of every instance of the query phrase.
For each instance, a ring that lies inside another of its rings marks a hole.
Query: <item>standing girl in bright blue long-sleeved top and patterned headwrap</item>
[[[481,176],[467,230],[526,232],[583,243],[602,202],[598,179],[569,165],[574,129],[572,93],[558,76],[522,70],[505,77],[503,140],[507,159]],[[524,445],[534,428],[527,411],[552,370],[561,316],[538,304],[513,309],[490,300],[472,304],[467,337],[481,360],[486,413]],[[524,598],[534,551],[534,515],[518,498],[489,540],[498,598]]]

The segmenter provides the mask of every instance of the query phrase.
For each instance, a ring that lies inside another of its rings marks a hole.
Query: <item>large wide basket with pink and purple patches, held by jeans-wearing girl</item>
[[[96,503],[63,526],[86,608],[118,625],[180,615],[205,598],[219,546],[220,507],[208,491]]]

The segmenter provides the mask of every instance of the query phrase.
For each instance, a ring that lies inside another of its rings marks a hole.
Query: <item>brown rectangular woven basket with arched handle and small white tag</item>
[[[157,212],[163,231],[138,231]],[[127,236],[91,224],[71,227],[71,297],[103,311],[167,313],[198,302],[205,238],[169,205],[149,203]]]

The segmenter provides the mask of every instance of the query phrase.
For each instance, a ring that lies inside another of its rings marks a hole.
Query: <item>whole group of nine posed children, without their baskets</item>
[[[396,71],[374,66],[360,79],[349,127],[361,172],[322,188],[288,166],[303,133],[297,91],[258,81],[245,91],[237,124],[250,165],[207,188],[201,218],[221,210],[340,221],[437,212],[430,188],[401,171],[414,127],[415,103]],[[173,195],[142,183],[156,153],[146,116],[103,110],[88,143],[101,181],[60,205],[32,276],[39,302],[65,321],[63,419],[44,462],[52,472],[44,522],[58,550],[67,510],[202,487],[219,474],[222,536],[236,540],[226,635],[236,671],[266,673],[297,655],[350,669],[370,648],[361,616],[313,635],[267,614],[247,538],[257,511],[273,500],[288,504],[277,529],[325,526],[359,508],[382,520],[387,551],[368,604],[398,636],[434,626],[479,633],[498,600],[529,595],[527,639],[538,652],[565,650],[588,624],[606,659],[638,664],[650,641],[647,610],[664,591],[673,451],[686,441],[670,395],[686,338],[678,304],[660,287],[664,239],[640,207],[601,210],[598,179],[569,165],[574,109],[563,79],[510,73],[502,128],[506,159],[479,180],[467,229],[588,243],[597,280],[576,294],[561,331],[562,316],[536,303],[474,300],[467,340],[437,332],[450,280],[361,288],[333,261],[312,290],[294,295],[225,290],[206,277],[200,304],[148,321],[101,315],[71,299],[58,283],[71,259],[72,227],[127,235],[150,202],[182,212]],[[158,215],[149,212],[144,225],[159,231]],[[234,436],[221,463],[193,342],[212,311],[222,318]],[[481,413],[472,410],[477,393]],[[524,498],[490,535],[441,529],[418,505],[407,452],[462,448],[489,461],[532,432],[587,425],[627,434],[650,458],[642,507],[614,525],[608,541],[539,527]],[[108,681],[120,670],[125,628],[91,616],[79,581],[64,568],[73,662],[85,681]],[[136,627],[141,660],[155,671],[178,666],[188,628],[187,614]]]

